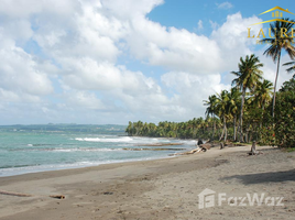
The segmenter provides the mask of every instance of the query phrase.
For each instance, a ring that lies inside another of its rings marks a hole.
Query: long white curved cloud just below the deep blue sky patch
[[[251,53],[253,41],[247,38],[247,28],[258,21],[261,20],[256,16],[242,18],[238,12],[228,15],[221,26],[216,26],[211,36],[204,36],[136,19],[127,42],[130,52],[150,65],[205,75],[228,70],[233,64],[236,67],[240,56]],[[253,31],[259,28],[254,26]]]

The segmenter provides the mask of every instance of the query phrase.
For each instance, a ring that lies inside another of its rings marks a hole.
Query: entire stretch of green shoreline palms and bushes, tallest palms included
[[[288,21],[286,19],[286,21]],[[194,118],[186,122],[163,121],[159,124],[142,121],[129,122],[125,132],[132,136],[165,136],[178,139],[210,139],[227,142],[252,142],[295,147],[295,75],[276,91],[282,51],[288,54],[288,73],[295,70],[295,47],[292,38],[293,23],[271,24],[273,38],[264,52],[277,63],[275,84],[263,78],[263,64],[254,54],[240,57],[232,88],[221,90],[204,100],[205,119]],[[276,29],[287,31],[284,36]],[[289,67],[291,66],[291,67]]]

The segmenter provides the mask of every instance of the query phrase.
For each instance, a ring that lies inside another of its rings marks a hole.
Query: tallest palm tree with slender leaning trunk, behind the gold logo
[[[271,46],[263,53],[266,56],[271,56],[274,62],[277,63],[276,67],[276,75],[274,81],[274,90],[273,90],[273,108],[272,108],[272,116],[274,118],[274,108],[275,108],[275,89],[277,82],[277,76],[280,70],[280,61],[281,61],[281,53],[284,50],[288,56],[294,59],[295,58],[295,48],[293,44],[293,25],[294,20],[283,19],[284,21],[276,21],[270,24],[271,32],[274,35],[273,38],[264,38],[261,40],[262,43],[271,43]],[[283,33],[282,33],[283,32]]]

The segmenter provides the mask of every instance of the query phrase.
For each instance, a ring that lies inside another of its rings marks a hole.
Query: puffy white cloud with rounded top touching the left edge
[[[53,92],[48,76],[39,69],[31,55],[12,42],[0,50],[0,88],[7,101],[20,101],[22,98],[39,101],[41,96]]]

